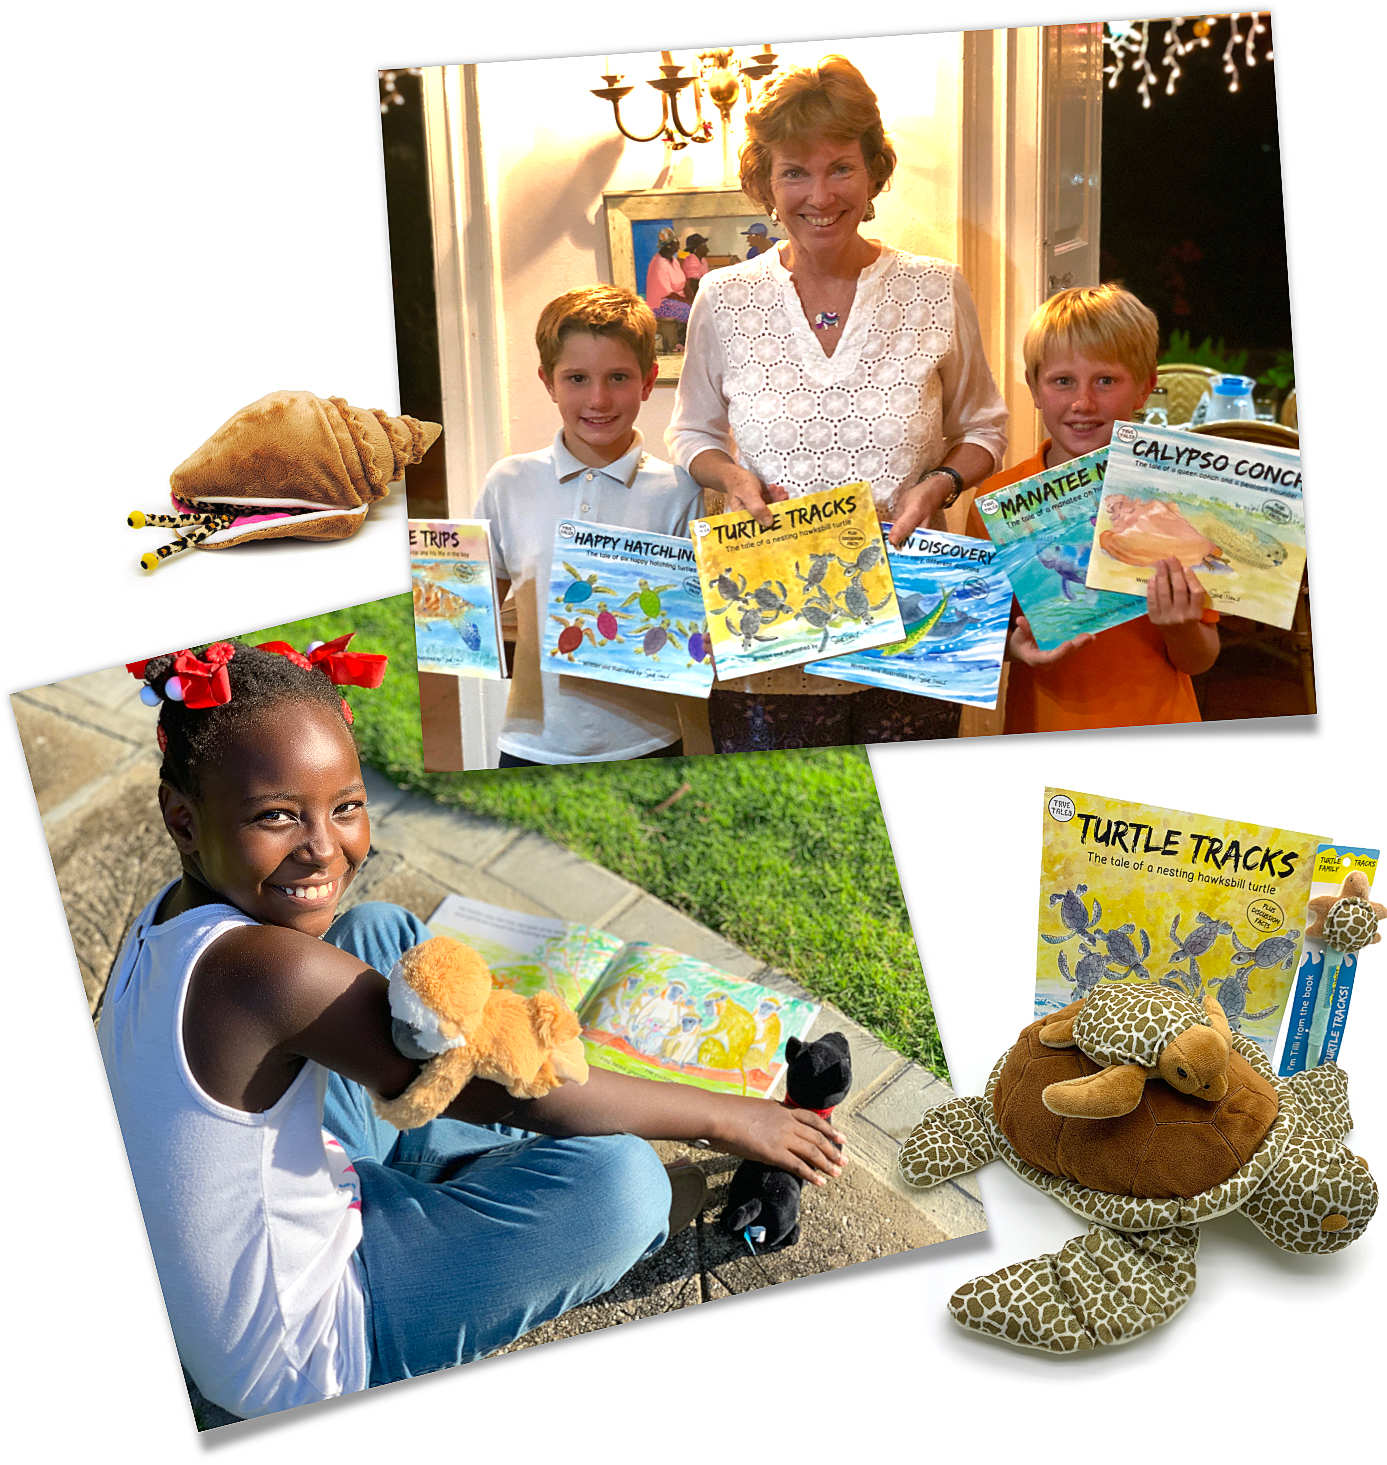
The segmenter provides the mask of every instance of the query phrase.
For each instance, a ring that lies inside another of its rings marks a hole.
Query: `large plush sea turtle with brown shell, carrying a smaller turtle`
[[[1343,1069],[1277,1078],[1233,1034],[1217,1102],[1153,1080],[1122,1118],[1065,1118],[1041,1094],[1100,1065],[1043,1043],[1050,1021],[1021,1033],[981,1099],[930,1109],[901,1149],[911,1185],[1000,1159],[1090,1222],[1059,1251],[959,1288],[949,1311],[964,1327],[1053,1354],[1131,1342],[1189,1301],[1200,1222],[1233,1210],[1286,1251],[1342,1251],[1362,1235],[1377,1185],[1342,1143],[1352,1128]]]

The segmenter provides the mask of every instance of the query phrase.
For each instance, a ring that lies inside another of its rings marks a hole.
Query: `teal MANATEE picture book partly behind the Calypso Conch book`
[[[974,500],[997,546],[997,568],[1043,650],[1147,612],[1129,596],[1085,583],[1106,464],[1107,448],[1098,448]]]

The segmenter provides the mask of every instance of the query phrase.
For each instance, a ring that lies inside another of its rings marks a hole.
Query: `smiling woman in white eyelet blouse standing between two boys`
[[[860,231],[895,161],[841,56],[782,73],[747,116],[741,186],[788,239],[702,281],[666,441],[762,523],[770,501],[866,481],[901,544],[1002,463],[1006,406],[958,268]],[[958,731],[955,703],[798,670],[735,687],[709,705],[719,752]]]

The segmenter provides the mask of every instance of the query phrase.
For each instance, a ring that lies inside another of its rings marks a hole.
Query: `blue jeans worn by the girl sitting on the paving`
[[[327,939],[376,971],[429,930],[366,902]],[[324,1128],[362,1182],[371,1383],[470,1362],[614,1286],[663,1245],[669,1182],[630,1134],[555,1140],[458,1119],[401,1132],[328,1075]]]

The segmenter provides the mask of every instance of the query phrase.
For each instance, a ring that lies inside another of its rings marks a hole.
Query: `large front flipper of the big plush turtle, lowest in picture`
[[[1050,1354],[1131,1342],[1194,1295],[1198,1245],[1194,1226],[1091,1226],[1059,1251],[974,1277],[949,1298],[949,1311],[971,1332]]]

